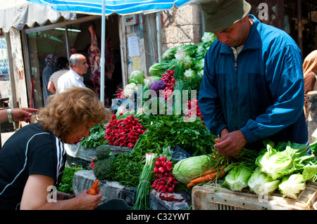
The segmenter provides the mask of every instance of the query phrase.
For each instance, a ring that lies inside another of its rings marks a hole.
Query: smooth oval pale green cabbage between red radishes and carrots
[[[209,156],[201,155],[180,160],[173,168],[173,175],[178,182],[185,185],[199,177],[202,172],[210,169]]]

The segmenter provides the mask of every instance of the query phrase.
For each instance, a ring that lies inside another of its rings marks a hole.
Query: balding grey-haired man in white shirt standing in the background
[[[84,77],[89,65],[86,57],[80,53],[75,53],[69,59],[70,70],[63,74],[57,81],[58,93],[63,93],[73,86],[86,87],[84,84]]]

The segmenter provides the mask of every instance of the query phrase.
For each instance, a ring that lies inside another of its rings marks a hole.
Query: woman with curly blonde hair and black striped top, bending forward
[[[111,110],[89,88],[75,87],[49,97],[37,123],[24,126],[0,150],[0,209],[94,209],[101,193],[76,197],[57,192],[66,163],[63,143],[87,138],[111,119]],[[52,191],[51,191],[52,190]]]

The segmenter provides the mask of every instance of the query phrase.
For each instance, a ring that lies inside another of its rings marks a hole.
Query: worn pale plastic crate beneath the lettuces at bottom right
[[[297,199],[280,195],[255,195],[234,192],[220,185],[195,186],[192,189],[193,210],[313,210],[317,183],[309,182]]]

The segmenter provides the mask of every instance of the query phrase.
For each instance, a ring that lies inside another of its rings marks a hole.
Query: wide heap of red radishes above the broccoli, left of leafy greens
[[[127,118],[116,119],[116,114],[112,115],[112,120],[106,126],[104,140],[108,140],[108,145],[120,147],[134,147],[139,136],[147,131],[139,124],[139,120],[133,115]]]

